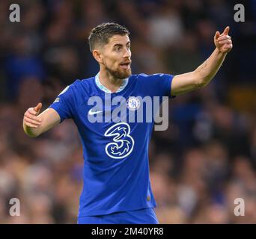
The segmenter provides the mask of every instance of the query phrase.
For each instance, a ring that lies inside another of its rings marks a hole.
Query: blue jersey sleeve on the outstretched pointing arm
[[[169,74],[153,74],[138,75],[141,80],[143,87],[150,96],[168,96],[170,99],[176,96],[171,95],[171,81],[174,78],[174,75]]]

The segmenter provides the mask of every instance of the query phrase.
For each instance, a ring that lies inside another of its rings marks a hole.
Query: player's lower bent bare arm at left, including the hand
[[[23,129],[25,134],[30,137],[37,137],[61,121],[58,113],[54,109],[48,108],[46,111],[39,114],[41,108],[42,104],[38,103],[36,107],[28,108],[28,110],[25,111]]]

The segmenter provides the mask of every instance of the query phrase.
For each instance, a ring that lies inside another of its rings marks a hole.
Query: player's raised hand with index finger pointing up
[[[228,53],[233,48],[231,36],[228,36],[229,27],[226,27],[222,34],[216,31],[214,36],[214,44],[222,53]]]

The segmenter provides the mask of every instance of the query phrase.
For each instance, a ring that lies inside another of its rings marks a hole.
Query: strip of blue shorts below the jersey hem
[[[153,208],[121,211],[100,216],[78,217],[78,224],[159,224]]]

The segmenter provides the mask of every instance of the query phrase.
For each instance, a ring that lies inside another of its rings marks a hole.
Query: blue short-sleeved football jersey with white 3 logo
[[[146,114],[139,100],[146,96],[171,98],[172,78],[168,74],[130,75],[111,93],[100,84],[98,74],[74,81],[49,106],[61,122],[73,119],[82,141],[84,184],[79,217],[156,207],[148,161],[154,122],[129,122],[129,115],[139,110]],[[113,103],[113,99],[121,101]],[[112,113],[121,105],[124,111],[115,117],[119,121],[113,120]]]

